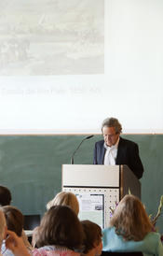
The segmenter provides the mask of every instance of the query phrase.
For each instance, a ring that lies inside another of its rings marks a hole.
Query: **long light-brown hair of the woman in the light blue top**
[[[119,202],[110,220],[110,226],[115,227],[117,235],[134,241],[143,240],[153,228],[142,202],[131,194],[125,195]]]

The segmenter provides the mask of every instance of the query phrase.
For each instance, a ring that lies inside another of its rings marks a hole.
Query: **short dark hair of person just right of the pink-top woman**
[[[85,233],[85,249],[83,252],[88,253],[90,249],[95,248],[102,241],[102,229],[98,224],[90,220],[82,220],[81,224]]]

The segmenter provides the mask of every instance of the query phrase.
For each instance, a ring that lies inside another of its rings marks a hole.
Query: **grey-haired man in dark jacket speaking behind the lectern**
[[[96,142],[93,164],[127,164],[137,178],[143,177],[138,145],[120,136],[122,126],[115,118],[102,122],[103,140]]]

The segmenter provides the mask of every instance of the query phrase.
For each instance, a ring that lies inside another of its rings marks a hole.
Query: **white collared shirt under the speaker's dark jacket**
[[[115,145],[109,147],[104,143],[104,148],[106,149],[104,155],[104,165],[115,165],[117,147],[119,143],[119,138],[117,139]]]

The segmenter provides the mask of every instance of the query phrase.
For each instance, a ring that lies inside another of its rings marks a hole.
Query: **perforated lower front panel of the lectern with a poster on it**
[[[112,210],[119,202],[119,189],[63,188],[73,192],[79,202],[80,220],[91,220],[103,228],[109,225]]]

